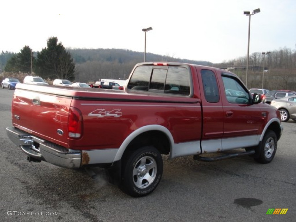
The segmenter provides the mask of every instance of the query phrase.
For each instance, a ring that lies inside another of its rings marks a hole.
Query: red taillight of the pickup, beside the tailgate
[[[70,107],[68,120],[68,136],[80,138],[82,136],[82,114],[77,108]]]

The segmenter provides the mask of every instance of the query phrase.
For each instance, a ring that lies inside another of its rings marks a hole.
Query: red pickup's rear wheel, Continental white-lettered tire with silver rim
[[[152,146],[142,147],[123,160],[122,189],[133,197],[152,193],[163,174],[163,159]]]

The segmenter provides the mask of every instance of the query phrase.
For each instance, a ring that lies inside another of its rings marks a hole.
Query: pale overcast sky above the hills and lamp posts
[[[65,47],[115,48],[220,63],[296,44],[295,0],[1,0],[0,52],[33,51],[55,36]]]

